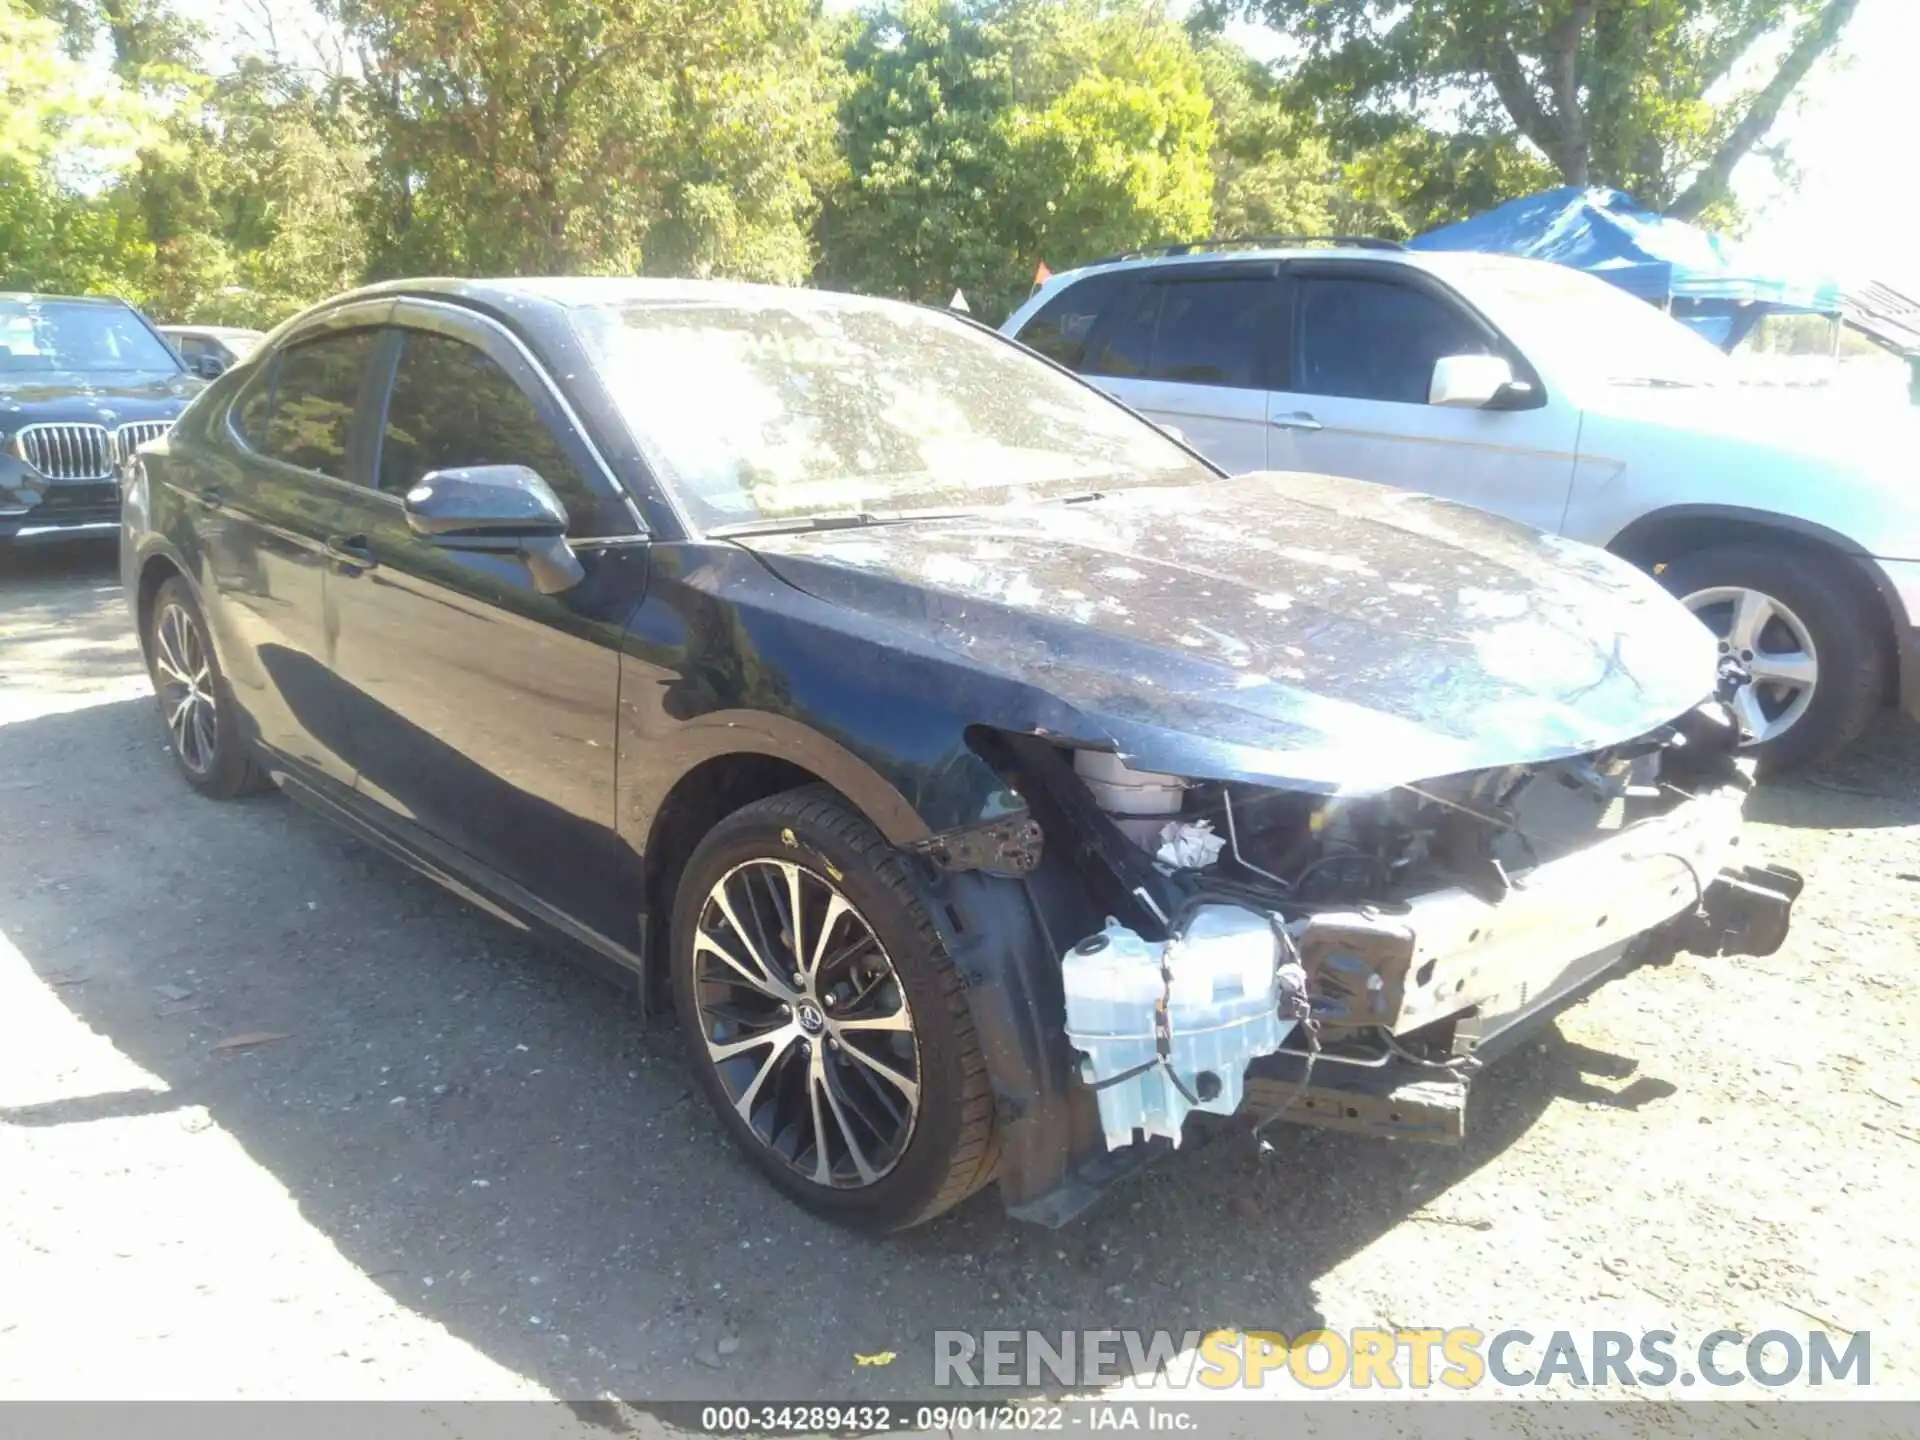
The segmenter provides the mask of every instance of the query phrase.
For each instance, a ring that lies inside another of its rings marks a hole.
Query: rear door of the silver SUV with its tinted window
[[[1273,261],[1112,271],[1068,286],[1020,338],[1229,474],[1263,470],[1284,319],[1277,275]]]

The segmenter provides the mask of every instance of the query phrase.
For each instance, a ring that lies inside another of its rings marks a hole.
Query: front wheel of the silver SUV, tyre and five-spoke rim
[[[1716,545],[1682,555],[1659,578],[1715,630],[1722,653],[1753,666],[1736,708],[1763,733],[1747,749],[1763,772],[1828,760],[1872,724],[1887,653],[1880,616],[1843,561],[1788,545]],[[1795,685],[1799,676],[1811,682]]]

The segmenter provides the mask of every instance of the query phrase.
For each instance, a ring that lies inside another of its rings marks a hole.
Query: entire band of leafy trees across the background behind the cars
[[[996,319],[1041,263],[1405,236],[1557,177],[1726,221],[1857,0],[319,4],[324,73],[213,75],[180,0],[0,0],[0,284],[273,323],[394,275],[647,273]]]

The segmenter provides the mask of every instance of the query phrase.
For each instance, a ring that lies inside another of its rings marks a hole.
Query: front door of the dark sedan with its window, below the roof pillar
[[[591,453],[524,355],[478,321],[438,324],[390,332],[376,484],[334,538],[334,668],[359,791],[618,939],[618,645],[645,593],[645,545],[611,480],[588,478]],[[586,580],[541,595],[518,559],[415,536],[401,497],[463,465],[538,470],[568,509]]]

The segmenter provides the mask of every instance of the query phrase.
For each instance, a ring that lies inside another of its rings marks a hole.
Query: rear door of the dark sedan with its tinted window
[[[184,480],[202,584],[215,591],[207,618],[240,705],[309,781],[340,787],[353,766],[328,662],[326,545],[365,493],[357,417],[388,309],[349,307],[267,357]]]

